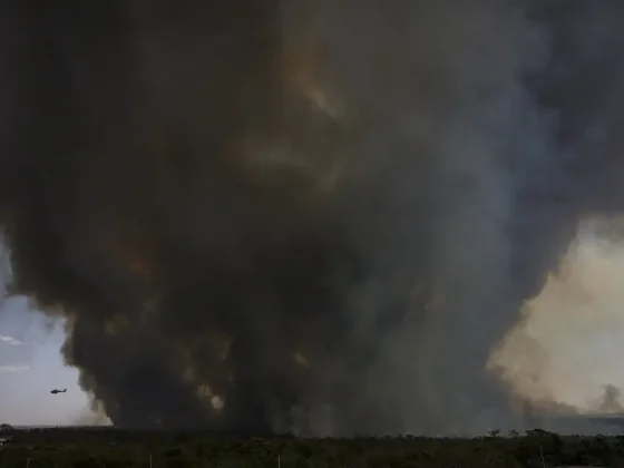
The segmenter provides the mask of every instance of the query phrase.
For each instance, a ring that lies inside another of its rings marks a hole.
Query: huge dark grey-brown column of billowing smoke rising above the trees
[[[488,355],[622,208],[622,2],[10,3],[13,292],[115,425],[519,425]]]

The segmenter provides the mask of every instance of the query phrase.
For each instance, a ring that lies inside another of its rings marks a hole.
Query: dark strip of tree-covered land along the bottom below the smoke
[[[555,467],[624,466],[624,437],[560,437],[540,430],[477,439],[306,440],[113,429],[10,431],[1,468],[40,467]]]

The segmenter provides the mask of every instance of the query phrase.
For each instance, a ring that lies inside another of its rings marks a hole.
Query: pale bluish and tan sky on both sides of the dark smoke
[[[624,388],[624,243],[598,235],[601,227],[595,220],[581,226],[559,271],[525,304],[491,358],[525,398],[595,411],[605,386]],[[62,323],[30,309],[26,298],[0,302],[0,422],[87,421],[88,398],[78,372],[62,362],[64,339]],[[67,393],[51,394],[53,388]]]

